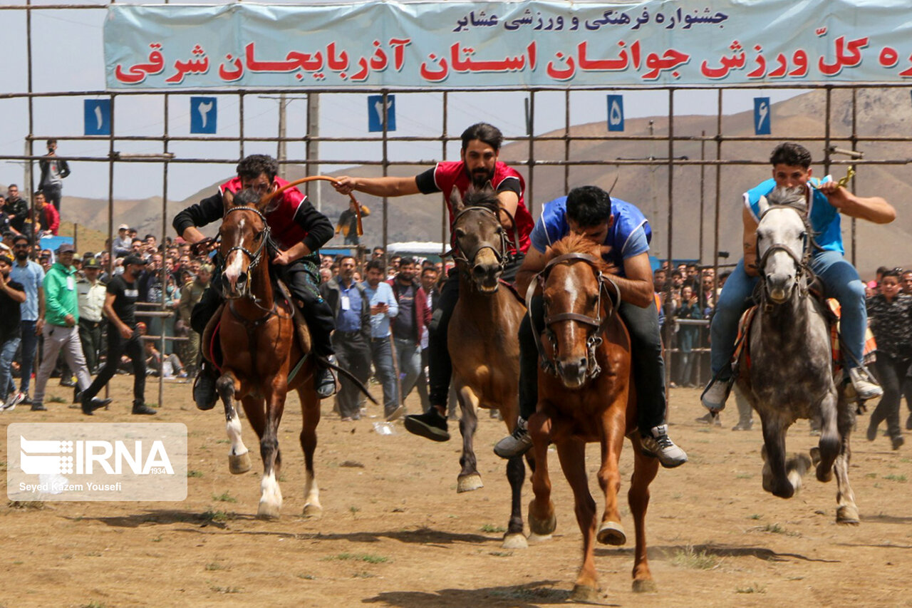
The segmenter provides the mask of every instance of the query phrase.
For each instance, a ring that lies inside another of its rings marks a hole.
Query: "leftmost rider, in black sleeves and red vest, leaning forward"
[[[223,194],[236,194],[250,188],[261,196],[275,192],[288,182],[277,177],[278,163],[265,154],[251,154],[238,163],[237,177],[219,186],[219,192],[192,204],[174,217],[172,225],[177,234],[188,243],[205,239],[197,228],[221,221],[224,215]],[[334,361],[330,335],[335,329],[332,311],[320,297],[319,248],[333,236],[333,225],[314,208],[305,194],[297,188],[289,188],[281,198],[264,214],[271,236],[278,249],[272,259],[272,269],[285,281],[295,302],[303,302],[301,311],[307,327],[313,336],[314,354],[318,358]],[[206,323],[223,301],[222,272],[217,269],[212,283],[202,294],[200,302],[193,307],[191,326],[202,334]],[[204,366],[193,391],[197,407],[209,409],[215,404],[215,378],[211,366]],[[332,372],[321,367],[316,378],[316,392],[320,398],[331,396],[336,380]]]

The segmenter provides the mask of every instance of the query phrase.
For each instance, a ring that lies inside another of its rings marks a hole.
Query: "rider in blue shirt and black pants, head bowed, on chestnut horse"
[[[635,205],[611,198],[597,186],[574,188],[566,196],[545,204],[530,235],[532,246],[516,274],[520,293],[524,294],[535,275],[544,269],[547,248],[569,234],[586,236],[601,245],[602,257],[615,268],[614,281],[621,294],[617,312],[630,334],[637,387],[637,425],[643,435],[643,446],[662,466],[683,465],[687,455],[668,437],[665,425],[665,364],[653,299],[648,253],[652,231],[648,220]],[[532,446],[526,421],[538,404],[539,366],[535,347],[538,336],[533,333],[530,315],[534,316],[535,327],[544,327],[540,293],[533,297],[519,330],[520,419],[513,435],[504,437],[494,447],[494,452],[504,458],[519,456]]]

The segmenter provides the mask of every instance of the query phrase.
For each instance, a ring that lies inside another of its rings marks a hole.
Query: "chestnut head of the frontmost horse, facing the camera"
[[[538,280],[544,303],[544,330],[553,351],[550,362],[567,388],[577,389],[601,372],[596,349],[619,302],[608,290],[607,264],[599,246],[584,236],[565,236],[549,250]],[[603,294],[607,297],[603,298]]]

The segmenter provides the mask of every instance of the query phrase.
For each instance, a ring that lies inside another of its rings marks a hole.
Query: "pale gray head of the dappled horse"
[[[807,198],[804,186],[777,187],[760,200],[757,267],[766,294],[775,304],[790,299],[808,271]]]

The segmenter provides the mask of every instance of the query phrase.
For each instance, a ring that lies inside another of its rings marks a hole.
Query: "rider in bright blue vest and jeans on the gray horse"
[[[875,224],[888,224],[896,219],[896,210],[879,196],[861,197],[834,183],[811,177],[811,152],[803,146],[786,142],[776,146],[770,157],[772,179],[744,193],[742,221],[744,225],[744,257],[731,272],[716,304],[716,314],[710,326],[710,364],[714,380],[701,397],[710,412],[725,407],[731,389],[731,356],[738,333],[738,320],[748,308],[757,274],[757,225],[760,222],[759,204],[762,196],[777,186],[807,188],[808,213],[814,229],[814,241],[819,246],[811,257],[814,275],[824,283],[824,296],[835,298],[842,308],[840,324],[845,342],[845,369],[860,399],[873,399],[883,394],[881,388],[861,366],[865,349],[865,284],[858,271],[843,255],[840,214],[866,219]]]

